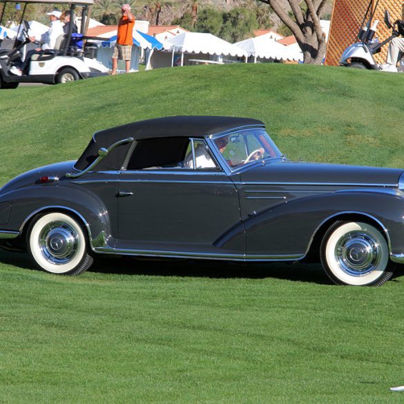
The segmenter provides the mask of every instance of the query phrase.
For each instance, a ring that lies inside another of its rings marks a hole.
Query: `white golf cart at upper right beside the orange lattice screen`
[[[395,23],[392,23],[389,11],[385,10],[384,21],[387,28],[392,30],[392,35],[385,39],[385,41],[383,42],[379,42],[377,39],[375,39],[376,29],[379,21],[375,20],[372,23],[372,20],[374,17],[374,12],[376,11],[376,8],[378,6],[378,1],[373,12],[370,13],[369,20],[365,25],[365,21],[367,19],[367,15],[369,14],[371,5],[372,1],[370,1],[369,3],[369,7],[367,8],[362,26],[360,27],[358,42],[356,42],[356,44],[348,46],[348,48],[344,50],[343,55],[340,57],[340,66],[380,70],[381,65],[379,65],[375,61],[374,55],[380,52],[381,48],[383,48],[385,44],[388,44],[389,41],[391,41],[395,37],[399,37],[400,35],[404,36],[404,21],[397,20]]]

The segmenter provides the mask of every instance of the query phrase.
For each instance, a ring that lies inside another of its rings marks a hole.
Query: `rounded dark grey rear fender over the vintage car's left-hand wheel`
[[[76,215],[88,231],[92,249],[108,242],[111,227],[106,206],[96,195],[79,187],[30,186],[0,195],[1,231],[21,235],[30,219],[44,211]]]

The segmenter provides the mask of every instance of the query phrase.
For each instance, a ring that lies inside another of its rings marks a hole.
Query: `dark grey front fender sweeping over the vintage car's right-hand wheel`
[[[394,192],[347,191],[299,198],[247,218],[247,255],[302,258],[323,224],[347,214],[363,215],[378,224],[390,253],[404,253],[403,197]]]

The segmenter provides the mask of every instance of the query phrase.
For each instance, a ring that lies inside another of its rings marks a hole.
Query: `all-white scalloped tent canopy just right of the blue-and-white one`
[[[166,50],[182,53],[204,53],[233,57],[248,57],[247,51],[230,44],[212,34],[201,32],[183,32],[164,44]]]

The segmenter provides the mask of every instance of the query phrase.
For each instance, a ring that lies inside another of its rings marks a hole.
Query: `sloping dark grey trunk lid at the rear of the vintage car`
[[[0,189],[0,194],[4,194],[14,189],[23,188],[25,186],[37,184],[40,177],[62,178],[67,172],[73,171],[74,164],[75,161],[55,163],[26,171],[26,173],[18,175],[4,185],[3,188]]]

